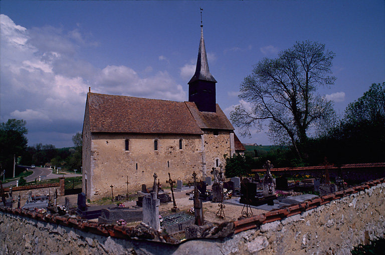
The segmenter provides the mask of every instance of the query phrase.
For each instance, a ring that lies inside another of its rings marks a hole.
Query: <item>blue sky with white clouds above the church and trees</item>
[[[229,117],[253,65],[297,41],[335,53],[318,93],[340,116],[385,82],[384,1],[0,1],[0,122],[27,121],[28,145],[73,146],[91,92],[187,101],[201,14],[217,103]],[[238,130],[235,130],[239,133]],[[268,145],[267,128],[243,143]]]

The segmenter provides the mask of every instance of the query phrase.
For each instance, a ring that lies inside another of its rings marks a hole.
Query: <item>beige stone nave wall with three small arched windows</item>
[[[125,139],[129,139],[128,151]],[[87,177],[91,200],[110,196],[110,185],[114,186],[114,194],[125,194],[127,176],[130,192],[140,190],[141,184],[151,188],[154,172],[162,185],[166,185],[168,172],[174,180],[190,181],[193,171],[202,171],[201,144],[200,135],[92,134],[92,174]]]

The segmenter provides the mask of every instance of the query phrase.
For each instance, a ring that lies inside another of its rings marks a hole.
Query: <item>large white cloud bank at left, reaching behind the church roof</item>
[[[167,72],[141,76],[131,67],[108,65],[100,69],[80,59],[77,53],[81,47],[90,47],[80,30],[27,30],[6,15],[0,15],[0,22],[0,120],[29,120],[29,136],[41,130],[47,130],[46,134],[57,129],[63,134],[81,131],[89,86],[93,92],[105,94],[186,99],[182,86]],[[151,71],[151,67],[146,68],[146,72]],[[41,120],[50,121],[52,126],[39,124]]]

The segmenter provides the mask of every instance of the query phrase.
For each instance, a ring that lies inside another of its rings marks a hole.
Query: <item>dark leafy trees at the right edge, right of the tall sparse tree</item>
[[[336,165],[383,162],[385,158],[385,84],[372,84],[350,103],[345,116],[327,135],[310,139],[304,149],[308,163],[323,158]]]

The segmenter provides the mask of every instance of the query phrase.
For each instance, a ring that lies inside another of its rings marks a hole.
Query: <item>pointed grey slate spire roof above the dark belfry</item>
[[[203,39],[203,25],[201,25],[201,42],[199,44],[197,68],[195,69],[195,74],[193,78],[191,78],[188,84],[191,84],[198,80],[215,82],[215,83],[217,82],[214,79],[213,75],[210,73],[209,64],[207,62],[205,40]]]

